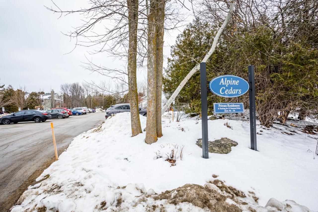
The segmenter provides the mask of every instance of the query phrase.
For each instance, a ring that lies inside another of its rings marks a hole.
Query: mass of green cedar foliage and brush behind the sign
[[[167,97],[201,62],[211,47],[216,30],[217,27],[195,20],[177,37],[165,69],[163,82]],[[318,45],[309,42],[308,37],[298,35],[294,35],[294,39],[288,37],[287,42],[285,36],[275,32],[270,25],[240,28],[229,23],[216,51],[206,63],[208,80],[224,74],[238,75],[247,80],[248,65],[255,66],[257,112],[261,123],[266,126],[271,125],[279,111],[304,106],[317,111],[318,107]],[[310,39],[317,41],[318,34],[316,38],[310,34]],[[199,72],[191,77],[177,99],[189,105],[187,112],[201,111]],[[208,92],[210,113],[213,102],[229,101],[244,102],[248,106],[248,95],[226,99]]]

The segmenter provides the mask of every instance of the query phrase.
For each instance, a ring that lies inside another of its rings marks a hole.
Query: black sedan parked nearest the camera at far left
[[[21,110],[12,113],[8,116],[3,116],[0,118],[0,124],[17,124],[18,122],[30,122],[35,123],[45,122],[47,119],[51,119],[50,113],[44,112],[42,110]]]

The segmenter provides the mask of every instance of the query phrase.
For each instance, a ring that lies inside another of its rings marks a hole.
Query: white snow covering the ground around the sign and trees
[[[146,117],[140,120],[144,129]],[[224,125],[226,122],[232,129]],[[130,113],[119,113],[74,138],[59,160],[38,177],[39,183],[22,194],[12,211],[111,211],[116,206],[143,211],[145,203],[135,196],[160,194],[187,183],[203,186],[215,179],[243,191],[247,196],[244,201],[257,211],[267,211],[263,207],[270,198],[293,200],[318,210],[318,156],[313,154],[317,140],[288,127],[263,129],[257,125],[257,152],[249,149],[248,122],[217,119],[208,125],[209,140],[229,138],[238,142],[232,152],[209,153],[210,158],[203,159],[202,149],[196,145],[202,138],[201,120],[184,116],[180,122],[172,122],[170,114],[162,119],[163,137],[147,145],[145,132],[131,137]],[[178,150],[175,166],[165,160],[173,148]],[[218,177],[213,178],[213,174]],[[257,202],[253,196],[259,198]],[[152,199],[151,204],[165,203]],[[178,207],[200,210],[191,203]],[[175,211],[176,206],[167,204],[166,210]],[[296,205],[288,211],[306,209]]]

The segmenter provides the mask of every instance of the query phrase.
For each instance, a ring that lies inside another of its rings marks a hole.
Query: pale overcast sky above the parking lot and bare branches
[[[55,0],[62,10],[78,9],[87,5],[86,0]],[[91,73],[82,67],[85,55],[91,58],[85,47],[74,48],[74,40],[61,32],[69,32],[72,27],[79,26],[79,15],[68,15],[59,18],[45,6],[51,7],[51,0],[1,1],[0,10],[0,83],[11,84],[14,88],[26,87],[27,91],[51,89],[60,91],[63,83],[108,80]],[[58,19],[59,18],[59,19]],[[179,30],[182,30],[179,29]],[[179,31],[170,32],[165,38],[165,56],[169,56],[169,45]],[[121,61],[115,60],[107,53],[93,56],[93,60],[110,68],[122,68]],[[146,70],[139,70],[138,77],[142,80]]]

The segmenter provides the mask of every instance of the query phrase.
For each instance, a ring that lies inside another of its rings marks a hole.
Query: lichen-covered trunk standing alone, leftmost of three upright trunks
[[[130,102],[131,136],[142,133],[137,91],[137,27],[138,27],[138,0],[127,0],[128,5],[128,96]]]

